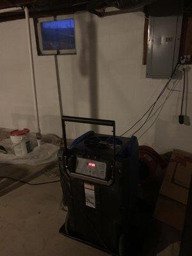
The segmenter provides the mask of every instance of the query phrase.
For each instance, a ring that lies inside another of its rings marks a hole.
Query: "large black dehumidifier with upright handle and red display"
[[[67,147],[65,122],[107,125],[113,136],[88,131]],[[111,255],[138,255],[138,141],[115,136],[115,121],[62,117],[64,148],[58,152],[63,204],[60,232]]]

